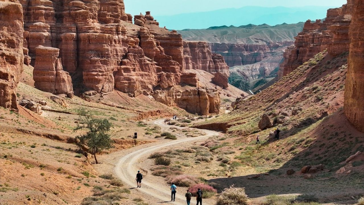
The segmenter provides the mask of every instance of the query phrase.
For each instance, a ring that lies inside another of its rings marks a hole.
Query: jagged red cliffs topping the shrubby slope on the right
[[[303,31],[298,34],[294,46],[284,53],[284,62],[278,71],[278,78],[289,74],[298,66],[321,51],[337,56],[349,51],[349,25],[352,14],[352,0],[340,8],[327,11],[326,19],[312,23],[307,20]]]

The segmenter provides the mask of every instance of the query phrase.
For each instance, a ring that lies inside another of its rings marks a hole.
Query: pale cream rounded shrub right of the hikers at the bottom
[[[248,196],[244,188],[230,186],[223,190],[217,198],[217,205],[246,205]]]

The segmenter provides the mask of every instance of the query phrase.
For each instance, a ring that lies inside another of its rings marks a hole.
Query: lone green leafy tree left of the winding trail
[[[79,124],[74,131],[85,129],[87,132],[76,136],[76,144],[81,148],[86,147],[87,152],[94,155],[95,162],[98,164],[96,154],[113,147],[114,142],[108,134],[112,124],[107,119],[94,118],[90,111],[85,109],[80,109],[78,115]]]

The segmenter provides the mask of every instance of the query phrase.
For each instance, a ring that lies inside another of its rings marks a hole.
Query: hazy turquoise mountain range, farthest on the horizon
[[[219,9],[208,12],[182,13],[171,16],[154,16],[168,29],[183,30],[185,28],[200,29],[217,25],[268,24],[271,26],[282,23],[297,23],[303,20],[322,19],[330,7],[256,7]]]

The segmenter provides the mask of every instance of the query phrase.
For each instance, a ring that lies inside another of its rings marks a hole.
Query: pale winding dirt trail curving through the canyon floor
[[[164,125],[164,119],[154,121],[154,124],[161,126],[164,129],[168,129],[175,126],[170,125]],[[175,127],[180,128],[180,127]],[[206,133],[204,136],[198,136],[195,138],[186,138],[186,139],[180,139],[180,140],[174,140],[171,142],[158,144],[151,147],[141,148],[136,151],[131,151],[127,154],[125,154],[122,158],[119,159],[119,162],[116,164],[114,172],[115,174],[125,183],[127,183],[127,186],[135,187],[135,170],[138,168],[135,166],[135,164],[138,162],[138,160],[142,157],[145,157],[146,155],[149,155],[155,151],[161,150],[165,147],[175,146],[177,144],[185,144],[187,142],[193,142],[197,140],[201,140],[204,138],[209,138],[213,135],[218,135],[218,132],[206,130],[206,129],[199,129]],[[163,183],[163,182],[162,182]],[[148,181],[148,179],[143,179],[142,188],[138,189],[138,191],[143,193],[142,198],[146,198],[147,195],[156,198],[156,204],[168,202],[171,192],[169,189],[163,189],[161,188],[162,183],[154,183]],[[176,194],[176,201],[171,202],[176,205],[185,205],[186,204],[186,198],[185,193],[181,193],[181,191]],[[193,200],[191,200],[191,203],[193,203]],[[209,203],[204,202],[205,205],[209,205]]]

